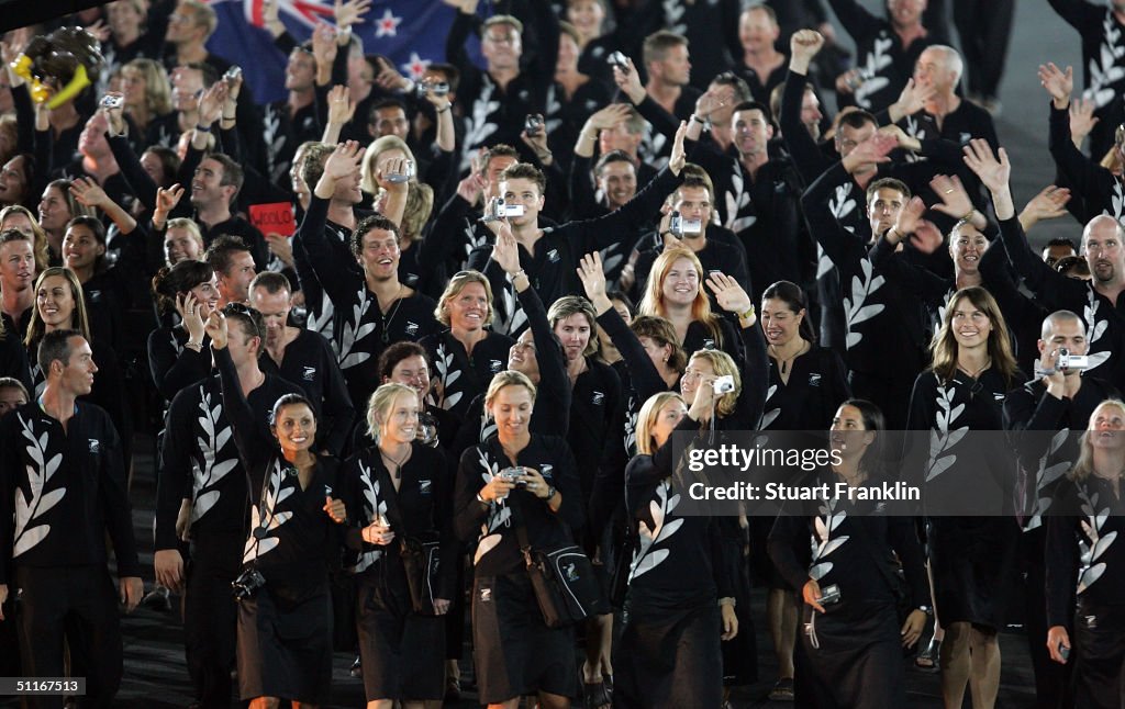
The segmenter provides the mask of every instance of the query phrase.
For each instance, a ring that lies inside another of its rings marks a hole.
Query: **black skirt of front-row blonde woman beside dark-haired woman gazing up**
[[[626,603],[613,649],[613,706],[680,709],[722,706],[722,622],[711,602],[688,610],[641,613]]]

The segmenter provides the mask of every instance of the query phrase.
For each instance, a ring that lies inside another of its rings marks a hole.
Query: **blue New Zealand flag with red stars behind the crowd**
[[[333,0],[274,0],[289,34],[308,39],[318,24],[334,24]],[[258,103],[286,98],[288,57],[263,28],[263,0],[210,0],[218,28],[207,49],[242,67]],[[446,36],[453,8],[441,0],[375,0],[363,21],[352,28],[363,40],[363,52],[381,54],[403,75],[421,76],[431,62],[446,58]]]

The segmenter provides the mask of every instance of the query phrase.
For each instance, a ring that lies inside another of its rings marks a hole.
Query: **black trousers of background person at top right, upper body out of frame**
[[[953,0],[970,94],[996,98],[1015,12],[1016,0]]]

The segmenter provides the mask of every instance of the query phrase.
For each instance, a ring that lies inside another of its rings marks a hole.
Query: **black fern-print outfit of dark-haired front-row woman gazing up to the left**
[[[829,490],[839,481],[828,471],[818,478],[810,483],[827,483]],[[882,482],[871,479],[862,487]],[[808,605],[801,609],[800,642],[808,663],[799,664],[798,672],[810,670],[801,685],[810,688],[816,706],[881,709],[907,703],[890,584],[892,552],[902,562],[914,607],[929,603],[929,587],[914,519],[890,516],[880,505],[835,497],[798,502],[786,507],[770,534],[770,556],[793,588],[814,579],[821,591],[831,584],[840,590],[839,602],[826,605],[825,613]]]

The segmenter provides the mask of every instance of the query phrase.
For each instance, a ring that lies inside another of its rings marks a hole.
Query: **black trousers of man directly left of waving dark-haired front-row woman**
[[[242,565],[241,534],[199,534],[192,539],[183,594],[188,674],[201,707],[227,709],[238,645],[238,615],[231,582]]]

